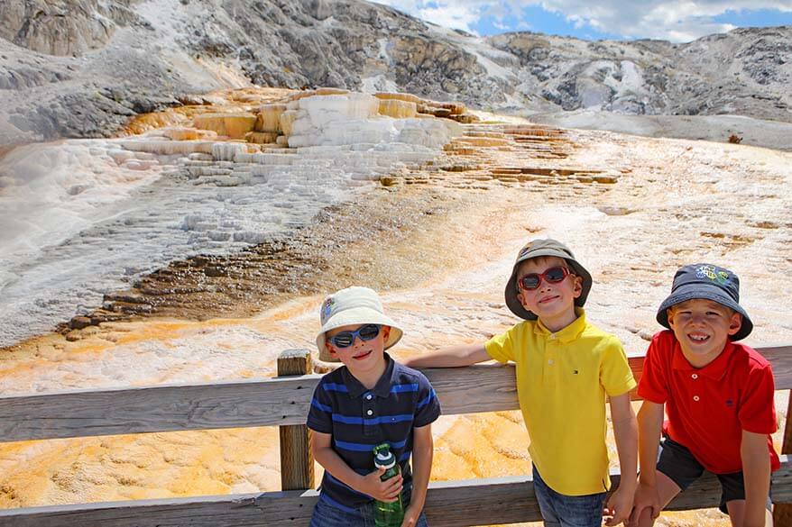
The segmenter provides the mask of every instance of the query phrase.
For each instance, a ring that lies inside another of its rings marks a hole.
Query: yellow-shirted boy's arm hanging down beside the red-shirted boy
[[[632,498],[637,486],[638,423],[635,413],[632,412],[630,392],[611,397],[611,420],[622,479],[619,488],[608,500],[606,513],[610,518],[605,525],[618,525],[630,517]]]

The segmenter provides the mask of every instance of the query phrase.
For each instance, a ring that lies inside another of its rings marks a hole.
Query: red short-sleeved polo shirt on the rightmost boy
[[[770,468],[780,467],[769,434],[776,432],[775,385],[759,352],[729,341],[704,368],[685,358],[673,332],[658,332],[643,362],[638,394],[666,404],[664,432],[685,445],[707,470],[742,470],[742,431],[768,434]]]

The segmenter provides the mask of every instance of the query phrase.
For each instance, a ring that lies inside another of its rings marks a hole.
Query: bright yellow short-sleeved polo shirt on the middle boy
[[[517,394],[530,434],[530,458],[557,493],[611,487],[605,446],[605,395],[635,387],[622,342],[577,319],[559,332],[525,321],[486,342],[487,353],[517,366]]]

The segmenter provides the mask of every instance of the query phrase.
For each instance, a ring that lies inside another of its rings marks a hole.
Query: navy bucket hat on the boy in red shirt
[[[670,330],[668,308],[694,298],[712,300],[742,315],[740,331],[729,335],[730,340],[740,341],[751,334],[753,330],[751,317],[739,304],[740,278],[729,269],[719,268],[713,264],[693,264],[679,268],[674,275],[671,295],[660,304],[658,309],[658,323]]]

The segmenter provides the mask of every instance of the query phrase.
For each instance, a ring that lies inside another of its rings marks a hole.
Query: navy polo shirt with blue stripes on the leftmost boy
[[[369,390],[343,366],[328,373],[314,391],[308,427],[333,436],[333,450],[358,474],[374,469],[373,448],[383,442],[401,465],[404,485],[412,481],[412,429],[437,420],[440,403],[427,377],[385,353],[385,372]],[[325,470],[321,499],[351,511],[373,498],[345,485]]]

